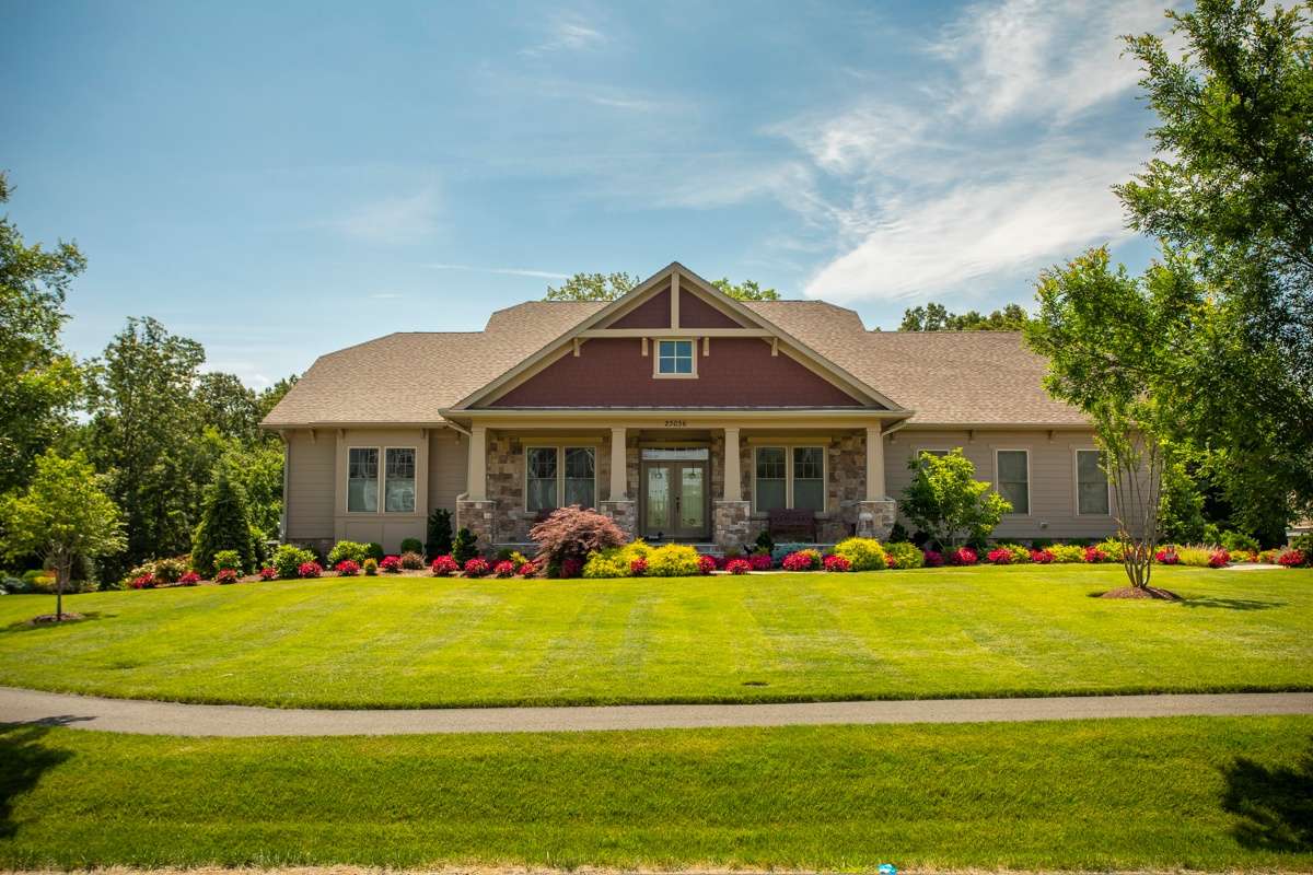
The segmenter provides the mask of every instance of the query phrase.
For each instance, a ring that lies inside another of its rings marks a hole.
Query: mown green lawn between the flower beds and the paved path
[[[1313,571],[337,579],[0,598],[0,683],[273,706],[1313,689]]]

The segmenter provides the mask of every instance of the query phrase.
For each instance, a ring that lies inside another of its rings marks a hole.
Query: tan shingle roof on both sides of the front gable
[[[1016,332],[869,332],[821,300],[746,302],[872,388],[916,411],[914,424],[1083,425],[1041,384],[1044,359]],[[268,426],[435,422],[440,411],[596,314],[604,302],[527,302],[482,332],[398,333],[320,357]]]

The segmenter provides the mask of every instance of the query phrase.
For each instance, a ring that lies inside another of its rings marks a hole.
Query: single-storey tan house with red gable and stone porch
[[[671,264],[614,302],[529,302],[481,332],[319,358],[264,421],[286,445],[284,538],[423,539],[435,508],[523,544],[579,504],[635,537],[886,537],[923,450],[962,447],[1007,539],[1115,530],[1094,434],[1012,332],[867,331],[818,300],[739,302]]]

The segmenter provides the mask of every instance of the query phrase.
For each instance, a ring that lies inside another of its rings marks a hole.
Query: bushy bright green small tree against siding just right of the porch
[[[1007,499],[976,479],[976,466],[961,449],[941,457],[922,453],[909,467],[914,475],[902,512],[940,547],[953,550],[964,540],[987,538],[1012,510]]]

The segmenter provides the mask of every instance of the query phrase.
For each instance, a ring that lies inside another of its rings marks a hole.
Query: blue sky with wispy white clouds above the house
[[[1158,0],[0,0],[0,167],[89,260],[68,346],[130,315],[263,386],[469,331],[576,270],[681,261],[895,327],[1029,302],[1112,243]]]

